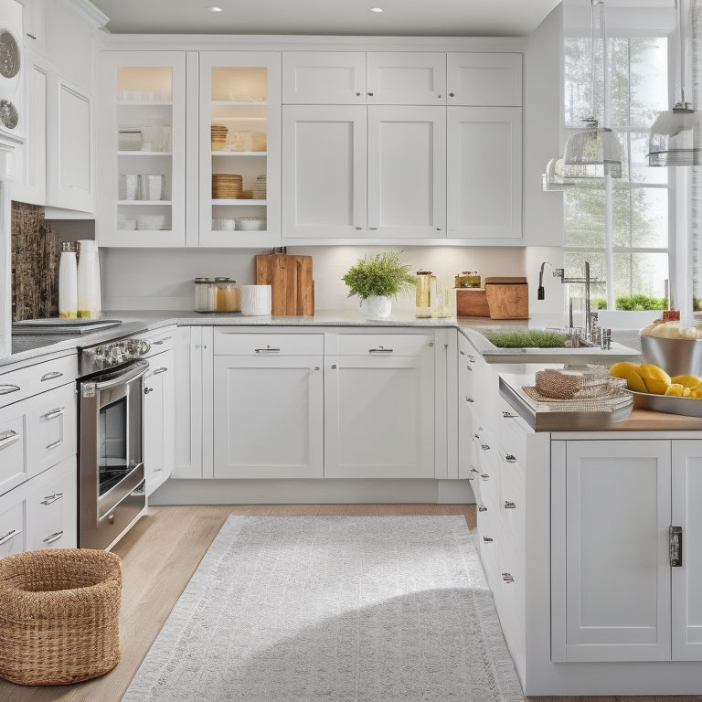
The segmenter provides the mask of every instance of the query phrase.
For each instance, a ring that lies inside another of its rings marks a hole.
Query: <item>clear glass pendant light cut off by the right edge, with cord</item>
[[[648,138],[648,165],[702,165],[702,119],[685,101],[685,37],[683,0],[677,0],[677,34],[680,44],[680,101],[661,112]]]

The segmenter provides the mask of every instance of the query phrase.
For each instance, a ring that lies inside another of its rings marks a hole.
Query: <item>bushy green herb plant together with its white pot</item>
[[[358,295],[361,311],[367,319],[388,317],[392,298],[414,290],[417,279],[410,265],[400,261],[400,251],[383,251],[364,256],[346,271],[342,280],[348,287],[348,297]]]

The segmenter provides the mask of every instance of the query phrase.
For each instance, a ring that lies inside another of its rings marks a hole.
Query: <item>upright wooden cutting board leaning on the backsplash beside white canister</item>
[[[312,256],[265,253],[256,257],[256,284],[271,285],[271,314],[314,314]]]

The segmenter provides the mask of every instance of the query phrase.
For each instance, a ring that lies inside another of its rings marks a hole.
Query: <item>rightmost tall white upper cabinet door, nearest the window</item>
[[[522,237],[522,111],[447,110],[448,236],[515,246]]]

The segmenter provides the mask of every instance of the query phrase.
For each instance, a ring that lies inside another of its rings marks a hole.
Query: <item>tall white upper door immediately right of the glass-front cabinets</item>
[[[367,236],[366,111],[360,106],[283,108],[286,241]]]

